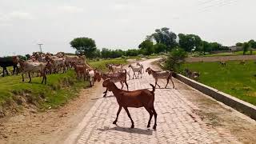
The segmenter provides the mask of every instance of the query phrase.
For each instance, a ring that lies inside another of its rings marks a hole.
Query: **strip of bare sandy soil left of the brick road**
[[[66,106],[43,113],[28,108],[22,114],[0,119],[0,143],[57,143],[65,140],[80,120],[90,110],[98,95],[102,95],[102,83],[81,91]]]

